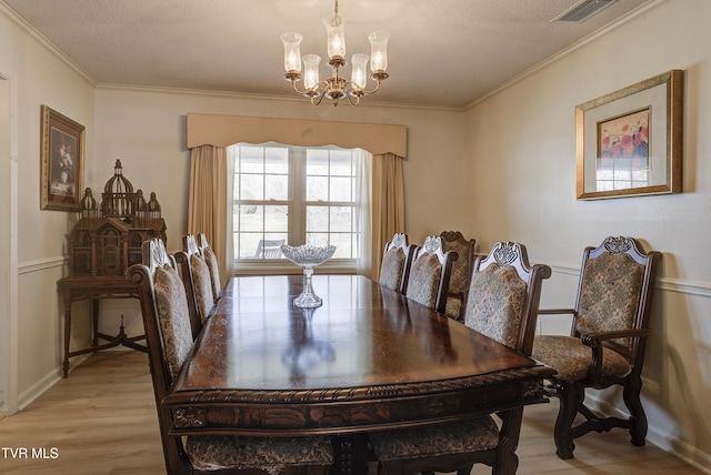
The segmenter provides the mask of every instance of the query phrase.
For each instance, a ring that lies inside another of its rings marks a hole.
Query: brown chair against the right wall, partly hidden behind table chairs
[[[459,231],[443,231],[442,249],[454,251],[459,259],[452,264],[452,276],[449,281],[449,293],[444,314],[451,319],[463,321],[464,307],[467,305],[467,291],[471,281],[471,270],[474,265],[475,240],[465,239]]]

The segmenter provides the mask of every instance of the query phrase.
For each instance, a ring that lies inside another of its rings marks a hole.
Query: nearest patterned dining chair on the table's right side
[[[537,312],[548,265],[530,265],[525,246],[494,244],[477,259],[467,299],[464,324],[525,355],[531,354]],[[455,324],[452,322],[452,324]],[[370,435],[379,474],[457,472],[469,475],[477,463],[492,473],[513,474],[523,407],[433,425],[397,428]]]

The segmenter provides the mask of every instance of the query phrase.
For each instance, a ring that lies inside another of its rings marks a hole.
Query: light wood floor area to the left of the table
[[[0,446],[28,448],[28,458],[0,458],[2,474],[166,473],[147,355],[90,356],[24,411],[1,420]],[[51,447],[57,458],[32,458],[32,448]]]

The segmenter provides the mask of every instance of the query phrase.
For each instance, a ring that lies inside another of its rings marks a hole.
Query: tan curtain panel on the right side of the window
[[[404,232],[404,181],[402,158],[394,153],[373,155],[372,160],[372,242],[371,262],[380,263],[385,243]],[[370,279],[378,282],[380,265],[372,265]]]

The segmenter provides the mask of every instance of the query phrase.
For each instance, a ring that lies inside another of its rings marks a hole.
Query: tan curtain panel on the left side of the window
[[[231,163],[221,146],[201,145],[190,150],[190,195],[188,234],[204,233],[220,261],[220,282],[234,274],[232,212],[228,209]],[[231,186],[230,186],[231,188]]]

